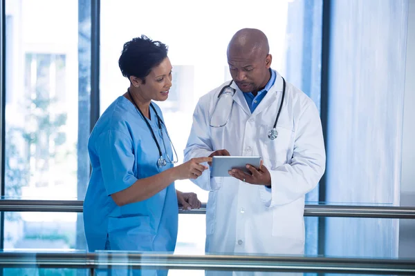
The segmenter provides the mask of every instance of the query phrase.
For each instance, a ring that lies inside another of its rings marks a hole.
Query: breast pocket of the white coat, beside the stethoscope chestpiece
[[[261,156],[264,159],[264,165],[271,170],[286,163],[290,163],[293,156],[295,132],[291,128],[277,126],[278,136],[271,140],[268,138],[268,131],[273,126],[262,125],[259,133],[261,141]]]

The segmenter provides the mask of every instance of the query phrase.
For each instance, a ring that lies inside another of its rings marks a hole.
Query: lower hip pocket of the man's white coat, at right
[[[273,236],[304,242],[304,200],[273,208]]]

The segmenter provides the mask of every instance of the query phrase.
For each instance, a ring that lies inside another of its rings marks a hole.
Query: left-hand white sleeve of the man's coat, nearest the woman
[[[187,139],[186,148],[184,150],[184,160],[187,162],[196,157],[208,157],[214,152],[212,141],[210,140],[210,126],[208,115],[208,103],[203,103],[207,99],[202,97],[196,105],[193,113],[193,123],[190,130],[189,139]],[[209,166],[207,162],[203,165]],[[216,178],[216,177],[215,177]],[[197,179],[190,179],[194,184],[201,187],[203,190],[217,190],[219,184],[210,179],[210,169],[205,170]]]

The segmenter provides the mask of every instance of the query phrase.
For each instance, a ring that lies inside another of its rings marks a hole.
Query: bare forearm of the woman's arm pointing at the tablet
[[[111,195],[118,206],[131,204],[149,199],[178,179],[176,168],[169,168],[163,172],[138,179],[133,185]]]

